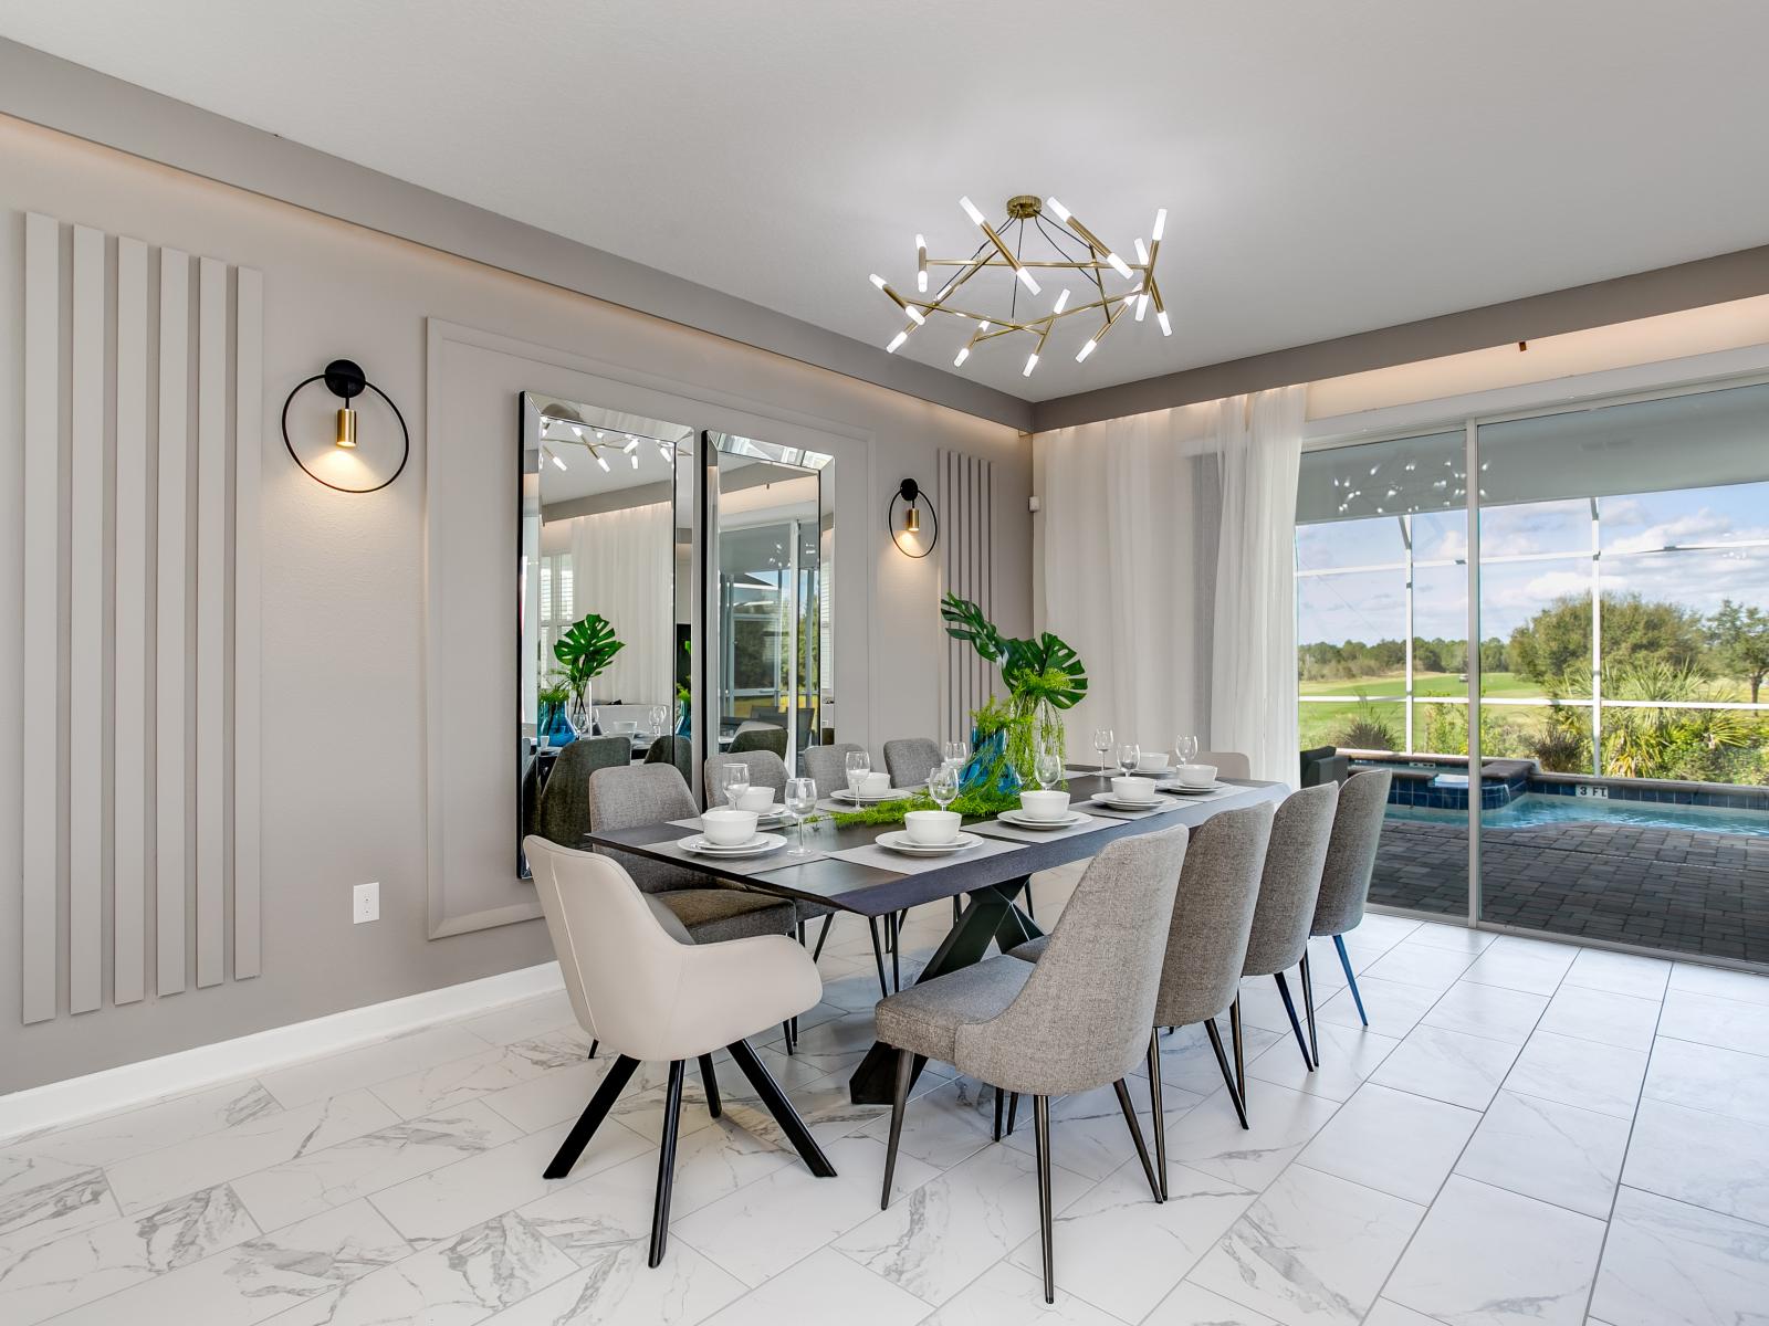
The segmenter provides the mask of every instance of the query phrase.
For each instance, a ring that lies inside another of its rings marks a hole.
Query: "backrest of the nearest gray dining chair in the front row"
[[[1125,1077],[1148,1050],[1185,826],[1107,843],[1063,907],[1026,987],[959,1027],[959,1071],[1061,1096]]]

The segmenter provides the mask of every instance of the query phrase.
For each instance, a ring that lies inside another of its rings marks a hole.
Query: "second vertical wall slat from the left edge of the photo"
[[[104,232],[74,226],[67,571],[67,1008],[104,990]]]

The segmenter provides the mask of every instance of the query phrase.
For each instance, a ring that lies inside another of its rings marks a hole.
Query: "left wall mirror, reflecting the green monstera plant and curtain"
[[[580,845],[596,769],[688,776],[690,456],[681,424],[522,396],[518,834]]]

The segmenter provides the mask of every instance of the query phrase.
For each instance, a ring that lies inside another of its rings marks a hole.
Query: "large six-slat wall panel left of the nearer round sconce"
[[[264,286],[35,212],[21,285],[19,972],[44,1022],[260,971]]]

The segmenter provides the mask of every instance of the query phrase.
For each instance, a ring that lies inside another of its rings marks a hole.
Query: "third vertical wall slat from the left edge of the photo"
[[[117,743],[111,999],[142,999],[147,900],[147,244],[117,240]]]

